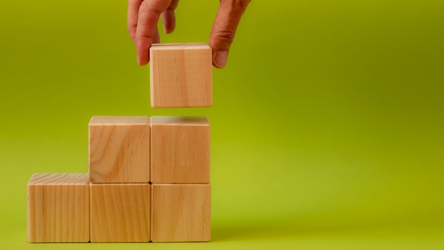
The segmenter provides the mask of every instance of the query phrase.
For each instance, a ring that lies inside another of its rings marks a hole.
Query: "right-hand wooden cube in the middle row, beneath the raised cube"
[[[203,116],[151,117],[151,183],[210,182],[210,124]]]

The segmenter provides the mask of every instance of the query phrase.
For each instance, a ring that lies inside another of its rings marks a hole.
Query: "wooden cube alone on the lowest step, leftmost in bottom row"
[[[28,241],[89,241],[88,174],[37,173],[30,178]]]

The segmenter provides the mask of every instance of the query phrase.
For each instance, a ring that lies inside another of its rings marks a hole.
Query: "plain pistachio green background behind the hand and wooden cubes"
[[[208,40],[182,0],[162,42]],[[151,109],[126,1],[0,2],[0,249],[443,249],[444,1],[253,0],[206,109]],[[211,121],[204,244],[28,244],[33,173],[86,173],[94,115]]]

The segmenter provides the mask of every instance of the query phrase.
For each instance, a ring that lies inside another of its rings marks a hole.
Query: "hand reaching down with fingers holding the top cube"
[[[225,67],[240,18],[251,0],[220,0],[210,34],[213,66]],[[174,10],[179,0],[128,0],[128,33],[137,50],[138,65],[150,60],[152,43],[160,43],[157,22],[162,18],[165,33],[176,27]]]

